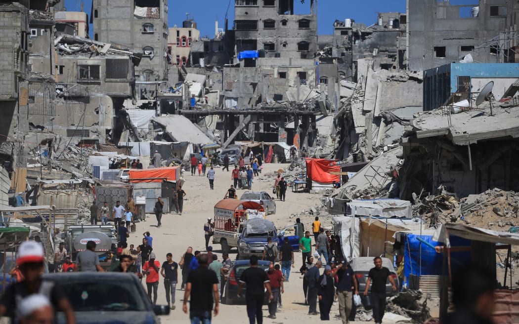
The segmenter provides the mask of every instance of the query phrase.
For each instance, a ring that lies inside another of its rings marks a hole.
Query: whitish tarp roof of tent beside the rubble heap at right
[[[411,202],[400,199],[352,200],[347,203],[347,215],[380,217],[413,217]]]

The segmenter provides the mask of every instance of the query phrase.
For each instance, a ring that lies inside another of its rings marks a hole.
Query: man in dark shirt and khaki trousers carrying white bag
[[[337,266],[337,296],[339,300],[339,314],[343,320],[343,324],[349,322],[348,318],[351,312],[351,302],[353,299],[352,287],[355,288],[355,294],[359,294],[357,279],[353,274],[353,269],[348,266],[348,263],[340,263]]]

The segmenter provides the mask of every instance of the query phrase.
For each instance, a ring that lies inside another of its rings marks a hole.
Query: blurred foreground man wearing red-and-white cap
[[[59,285],[50,280],[43,280],[45,253],[42,245],[34,241],[23,242],[18,248],[16,263],[20,267],[25,280],[11,284],[0,299],[0,315],[15,316],[13,311],[20,309],[24,298],[35,294],[43,294],[55,309],[65,314],[66,322],[76,322],[72,306]]]

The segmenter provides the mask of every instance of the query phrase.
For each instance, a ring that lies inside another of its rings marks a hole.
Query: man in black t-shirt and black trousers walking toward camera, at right
[[[375,320],[375,323],[381,323],[386,308],[386,280],[389,278],[389,282],[393,286],[394,291],[397,291],[397,286],[394,284],[394,279],[391,276],[389,269],[382,266],[382,259],[380,257],[375,257],[373,262],[375,263],[375,267],[372,268],[370,273],[367,275],[364,295],[367,296],[367,290],[370,288],[371,281],[373,281],[373,286],[371,287],[373,319]]]

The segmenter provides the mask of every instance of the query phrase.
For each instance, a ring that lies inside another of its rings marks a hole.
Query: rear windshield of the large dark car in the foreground
[[[146,311],[141,293],[133,283],[110,280],[60,281],[75,312]]]

